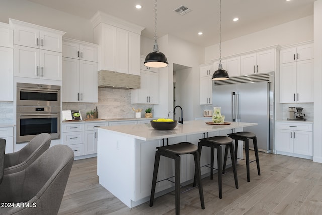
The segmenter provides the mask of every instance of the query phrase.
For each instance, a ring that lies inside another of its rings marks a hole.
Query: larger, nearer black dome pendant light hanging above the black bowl
[[[168,61],[167,57],[162,53],[159,52],[159,48],[157,45],[157,36],[156,36],[156,1],[155,0],[155,34],[154,34],[154,46],[153,46],[153,51],[150,52],[148,55],[145,57],[144,65],[146,67],[151,67],[151,68],[163,68],[168,66]]]

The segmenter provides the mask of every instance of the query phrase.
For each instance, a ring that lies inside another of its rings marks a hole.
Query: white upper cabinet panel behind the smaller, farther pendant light
[[[228,72],[229,77],[240,76],[240,57],[232,57],[221,60],[221,65]],[[214,71],[218,69],[219,61],[214,62]],[[212,73],[214,73],[212,71]],[[211,74],[212,75],[212,74]]]

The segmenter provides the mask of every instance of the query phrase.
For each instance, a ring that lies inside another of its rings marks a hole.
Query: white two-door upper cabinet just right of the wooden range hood
[[[159,103],[159,74],[141,70],[141,87],[132,90],[132,104]]]

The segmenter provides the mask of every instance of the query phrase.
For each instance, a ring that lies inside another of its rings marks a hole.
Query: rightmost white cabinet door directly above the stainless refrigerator
[[[257,52],[256,73],[269,73],[275,70],[274,49]]]

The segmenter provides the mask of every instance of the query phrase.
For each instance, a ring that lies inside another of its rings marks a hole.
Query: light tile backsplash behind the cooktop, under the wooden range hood
[[[63,102],[62,110],[79,110],[82,118],[86,118],[86,112],[98,109],[99,118],[135,118],[135,109],[142,109],[141,117],[144,117],[145,109],[152,107],[150,104],[131,104],[131,90],[98,88],[98,103],[74,103]]]

